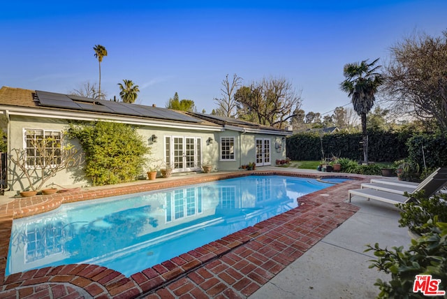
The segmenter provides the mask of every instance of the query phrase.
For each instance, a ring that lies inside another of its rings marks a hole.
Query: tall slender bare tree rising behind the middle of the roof
[[[233,80],[230,82],[228,79],[228,74],[226,74],[225,79],[222,80],[223,87],[221,88],[221,99],[214,98],[214,101],[219,105],[219,115],[226,117],[235,117],[236,112],[236,101],[234,99],[234,93],[237,87],[240,86],[242,78],[238,77],[236,74],[233,75]]]

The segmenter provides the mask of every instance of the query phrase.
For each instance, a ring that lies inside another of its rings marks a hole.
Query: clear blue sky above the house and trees
[[[94,45],[108,56],[101,89],[140,87],[137,103],[165,107],[178,92],[210,113],[226,74],[243,83],[286,78],[305,112],[349,103],[349,62],[389,57],[415,32],[441,36],[446,0],[2,1],[0,86],[70,93],[98,82]]]

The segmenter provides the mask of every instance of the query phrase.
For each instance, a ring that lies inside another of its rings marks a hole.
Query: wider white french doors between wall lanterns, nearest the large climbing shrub
[[[200,170],[202,139],[199,137],[166,136],[165,161],[174,172]]]

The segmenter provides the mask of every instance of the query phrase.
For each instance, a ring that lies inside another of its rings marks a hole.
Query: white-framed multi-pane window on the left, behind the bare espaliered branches
[[[61,131],[26,130],[27,166],[41,168],[61,163]]]

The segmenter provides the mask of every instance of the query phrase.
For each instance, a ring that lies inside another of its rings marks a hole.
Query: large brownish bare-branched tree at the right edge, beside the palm
[[[447,131],[447,31],[441,37],[414,34],[391,48],[384,91],[393,110],[437,120]]]

